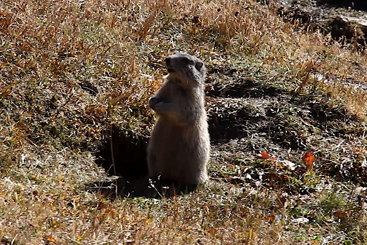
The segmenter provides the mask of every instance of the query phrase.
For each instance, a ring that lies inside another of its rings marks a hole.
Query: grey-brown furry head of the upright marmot
[[[203,85],[206,77],[204,62],[186,53],[175,53],[166,58],[170,76],[175,76],[188,85]]]

